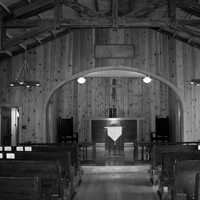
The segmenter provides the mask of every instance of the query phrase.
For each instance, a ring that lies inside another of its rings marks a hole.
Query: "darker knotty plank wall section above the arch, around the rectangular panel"
[[[95,67],[121,65],[149,70],[169,79],[169,41],[167,36],[148,29],[75,30],[73,73]],[[132,59],[95,59],[95,45],[106,44],[133,45],[134,57]]]

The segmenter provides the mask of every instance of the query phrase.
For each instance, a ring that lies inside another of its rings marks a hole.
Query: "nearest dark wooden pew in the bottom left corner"
[[[1,200],[41,200],[39,177],[0,177]]]

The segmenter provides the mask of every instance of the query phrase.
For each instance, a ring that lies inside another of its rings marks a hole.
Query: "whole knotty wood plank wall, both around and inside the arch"
[[[105,44],[128,44],[134,46],[133,58],[117,58],[117,59],[95,59],[95,45]],[[198,133],[200,126],[199,117],[199,94],[200,89],[198,87],[191,87],[187,84],[191,78],[198,78],[199,76],[199,50],[193,49],[181,42],[175,42],[174,39],[168,38],[168,36],[154,32],[147,29],[120,29],[118,31],[113,29],[97,29],[95,30],[74,30],[73,33],[66,35],[60,39],[49,42],[43,46],[40,46],[32,51],[29,51],[29,65],[31,71],[29,76],[32,79],[37,78],[41,81],[42,86],[31,90],[24,89],[11,89],[8,88],[8,81],[13,80],[16,77],[17,71],[23,64],[23,55],[19,55],[8,60],[2,61],[0,64],[0,104],[1,105],[15,105],[22,107],[22,132],[20,134],[20,141],[27,142],[41,142],[45,140],[44,119],[43,113],[44,102],[54,86],[71,77],[72,73],[75,74],[86,69],[105,66],[129,66],[138,69],[144,69],[151,71],[161,77],[164,77],[178,86],[183,98],[185,106],[184,117],[184,140],[199,140],[200,134]],[[110,82],[105,82],[110,84]],[[120,79],[119,83],[122,88],[126,89],[133,84],[133,81]],[[97,88],[101,84],[100,79],[90,80],[89,84],[94,84]],[[127,85],[128,84],[128,85]],[[131,103],[128,96],[123,97],[119,95],[118,105],[120,115],[131,115],[131,113],[139,113],[140,107],[137,107],[136,99],[140,97],[137,95],[143,95],[149,93],[148,98],[144,99],[144,107],[151,102],[150,108],[143,108],[143,114],[148,119],[148,124],[145,125],[144,130],[147,132],[154,130],[153,116],[157,113],[167,113],[171,116],[171,120],[174,121],[178,118],[175,110],[175,104],[177,99],[173,93],[169,93],[168,89],[161,84],[153,83],[152,89],[142,88],[140,82],[135,82],[137,90],[133,90],[130,87],[129,94],[135,96],[135,100]],[[104,106],[103,88],[99,87],[99,90],[89,88],[80,89],[75,83],[66,86],[59,94],[51,99],[49,106],[49,118],[50,123],[55,129],[55,118],[62,113],[62,115],[76,116],[77,130],[81,129],[84,121],[83,118],[92,116],[93,114],[103,115],[105,114],[106,105]],[[73,88],[73,90],[72,90]],[[74,91],[71,93],[70,91]],[[76,92],[77,91],[77,92]],[[86,92],[84,92],[86,91]],[[141,92],[142,91],[142,92]],[[97,101],[96,95],[100,93],[100,97]],[[119,88],[119,93],[123,94],[123,91]],[[86,94],[88,96],[84,97]],[[169,94],[169,95],[168,95]],[[91,98],[94,101],[91,101]],[[158,98],[159,97],[159,98]],[[69,99],[68,104],[65,104],[65,99]],[[80,102],[82,98],[86,98],[86,101],[82,106]],[[120,99],[121,98],[121,99]],[[129,100],[128,100],[129,99]],[[169,99],[169,101],[167,100]],[[62,104],[63,107],[58,105]],[[73,106],[72,106],[73,102]],[[95,102],[95,103],[94,103]],[[124,102],[124,103],[123,103]],[[162,103],[161,103],[162,102]],[[169,104],[168,104],[169,103]],[[107,103],[108,104],[108,103]],[[131,109],[128,111],[128,107]],[[123,109],[120,110],[120,105],[123,105]],[[169,106],[168,106],[169,105]],[[76,109],[78,108],[78,109]],[[87,108],[87,109],[86,109]],[[67,111],[67,112],[66,112]],[[101,114],[103,111],[103,114]],[[88,114],[89,113],[89,114]],[[174,121],[176,122],[176,121]],[[176,123],[172,125],[174,132],[177,132]],[[83,129],[84,133],[87,132],[87,126]],[[49,133],[50,140],[53,141],[55,132]]]

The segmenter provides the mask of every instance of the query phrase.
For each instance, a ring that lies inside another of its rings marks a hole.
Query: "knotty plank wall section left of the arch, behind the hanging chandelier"
[[[0,105],[15,105],[22,108],[22,132],[20,142],[44,142],[45,134],[43,113],[44,102],[48,93],[61,80],[71,76],[73,35],[69,34],[58,40],[28,52],[30,73],[27,78],[41,82],[41,87],[33,89],[9,88],[8,83],[14,80],[17,71],[23,65],[24,56],[18,55],[1,62],[0,65]],[[31,77],[31,78],[30,78]],[[52,120],[51,128],[55,128],[56,100],[54,96],[50,102],[49,117]],[[53,130],[51,140],[53,140]]]

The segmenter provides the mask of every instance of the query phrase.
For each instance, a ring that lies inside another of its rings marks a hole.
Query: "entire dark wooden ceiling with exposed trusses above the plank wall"
[[[150,28],[200,48],[197,0],[0,0],[0,56],[79,28]]]

